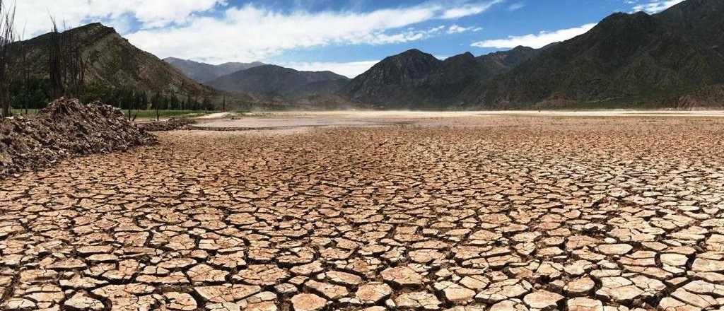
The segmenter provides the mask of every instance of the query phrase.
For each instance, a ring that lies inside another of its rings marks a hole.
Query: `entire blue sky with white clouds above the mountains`
[[[32,0],[26,33],[51,12],[68,25],[104,22],[161,58],[219,64],[264,61],[353,77],[385,56],[418,48],[440,59],[585,33],[613,12],[660,12],[681,0]],[[33,12],[35,14],[33,14]]]

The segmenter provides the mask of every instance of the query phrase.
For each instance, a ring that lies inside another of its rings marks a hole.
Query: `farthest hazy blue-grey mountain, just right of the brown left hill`
[[[164,61],[171,64],[173,67],[176,67],[176,69],[179,69],[181,72],[186,74],[187,77],[190,77],[199,83],[209,82],[227,74],[264,65],[264,63],[258,61],[254,61],[253,63],[229,62],[212,65],[200,63],[198,61],[190,61],[187,59],[177,59],[174,57],[168,57],[164,59]]]

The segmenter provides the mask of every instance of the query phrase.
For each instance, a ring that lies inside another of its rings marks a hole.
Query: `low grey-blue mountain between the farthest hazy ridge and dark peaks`
[[[311,95],[332,95],[348,82],[348,77],[334,72],[300,72],[264,65],[227,74],[206,85],[228,92],[294,99]]]

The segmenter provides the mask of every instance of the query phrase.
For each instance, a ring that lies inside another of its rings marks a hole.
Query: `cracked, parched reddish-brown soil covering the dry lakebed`
[[[446,122],[164,132],[0,181],[0,309],[724,305],[724,119]]]

